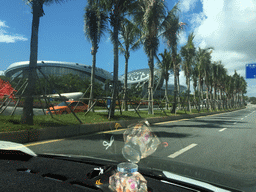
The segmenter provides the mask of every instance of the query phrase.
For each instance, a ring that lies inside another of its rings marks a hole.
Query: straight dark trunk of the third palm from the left
[[[114,85],[113,85],[113,94],[112,94],[113,99],[110,105],[110,113],[109,113],[108,119],[114,117],[115,107],[116,107],[116,97],[118,95],[118,29],[119,29],[119,26],[115,24],[114,25],[114,77],[113,77]]]

